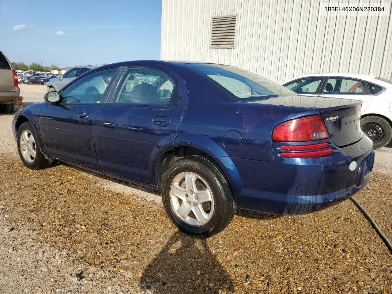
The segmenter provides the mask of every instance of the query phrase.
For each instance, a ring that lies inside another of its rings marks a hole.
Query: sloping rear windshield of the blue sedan
[[[238,67],[198,63],[189,63],[186,66],[211,80],[211,82],[228,92],[232,98],[239,102],[297,95],[278,83]]]

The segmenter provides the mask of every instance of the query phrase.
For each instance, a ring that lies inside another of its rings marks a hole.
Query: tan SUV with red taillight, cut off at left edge
[[[11,113],[19,97],[18,76],[11,62],[0,51],[0,113]]]

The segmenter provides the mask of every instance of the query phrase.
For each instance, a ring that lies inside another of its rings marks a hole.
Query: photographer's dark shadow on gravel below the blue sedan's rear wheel
[[[218,293],[233,289],[227,271],[210,252],[205,239],[175,233],[142,274],[147,293]]]

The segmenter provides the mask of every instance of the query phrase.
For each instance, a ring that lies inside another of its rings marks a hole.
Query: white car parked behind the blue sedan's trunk
[[[392,139],[392,81],[362,74],[307,74],[283,83],[300,95],[362,100],[361,129],[373,148]]]

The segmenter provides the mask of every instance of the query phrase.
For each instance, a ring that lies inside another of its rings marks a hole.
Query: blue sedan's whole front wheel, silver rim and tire
[[[44,169],[52,164],[53,159],[42,152],[30,122],[20,125],[17,144],[20,159],[29,169]]]

